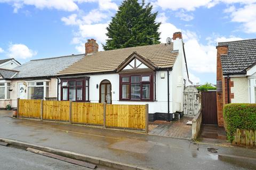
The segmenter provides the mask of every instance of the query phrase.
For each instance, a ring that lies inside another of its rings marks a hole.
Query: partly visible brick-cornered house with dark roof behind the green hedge
[[[223,126],[223,106],[256,103],[256,39],[218,43],[218,125]]]

